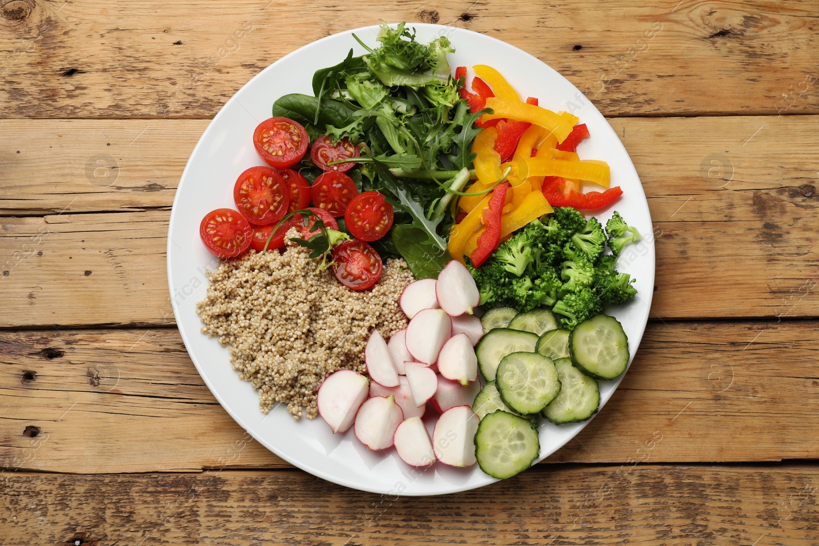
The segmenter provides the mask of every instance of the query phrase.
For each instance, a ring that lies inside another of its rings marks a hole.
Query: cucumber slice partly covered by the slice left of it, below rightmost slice
[[[560,392],[543,410],[543,417],[551,422],[586,421],[600,407],[600,388],[597,380],[587,376],[572,364],[572,359],[557,359]]]

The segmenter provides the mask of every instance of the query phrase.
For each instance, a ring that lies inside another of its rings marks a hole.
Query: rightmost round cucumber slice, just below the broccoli
[[[628,366],[628,338],[617,318],[599,314],[578,324],[568,341],[572,362],[595,379],[614,379]]]

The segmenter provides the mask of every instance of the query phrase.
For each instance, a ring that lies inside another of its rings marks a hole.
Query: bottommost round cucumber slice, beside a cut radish
[[[503,480],[532,466],[541,451],[528,419],[498,410],[483,417],[475,433],[475,458],[483,472]]]

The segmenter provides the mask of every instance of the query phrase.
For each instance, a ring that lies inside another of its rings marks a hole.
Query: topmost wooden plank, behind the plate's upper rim
[[[606,115],[815,113],[814,8],[809,0],[640,0],[604,10],[591,0],[219,0],[196,11],[159,0],[106,9],[7,3],[0,117],[210,118],[281,56],[379,18],[503,39],[564,74]]]

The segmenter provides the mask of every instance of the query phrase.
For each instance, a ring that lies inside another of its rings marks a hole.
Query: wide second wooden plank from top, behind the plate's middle
[[[0,317],[0,326],[156,324],[173,318],[165,288],[169,212],[161,209],[171,204],[183,158],[206,122],[164,120],[146,129],[148,123],[0,125],[0,150],[11,154],[0,174],[7,190],[0,213],[49,214],[3,220],[0,264],[10,273],[2,278],[0,305],[13,313]],[[819,116],[612,124],[640,173],[654,219],[653,317],[817,316],[819,160],[812,151],[819,149]],[[54,153],[43,158],[39,150],[48,147]],[[107,180],[95,178],[96,163],[90,178],[87,165],[108,153],[103,164],[115,162],[120,174],[102,187]],[[42,175],[32,177],[37,165]],[[147,213],[71,214],[140,207]],[[37,238],[43,230],[48,236]],[[74,276],[66,277],[66,264]],[[85,271],[93,275],[84,278]],[[123,298],[128,306],[107,304]],[[68,305],[77,301],[82,305]]]

